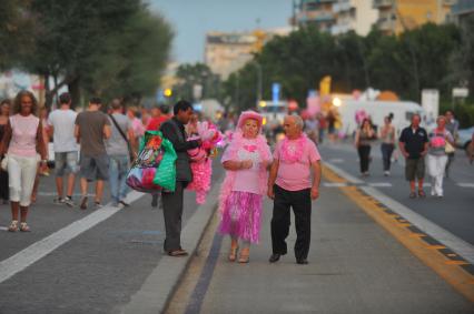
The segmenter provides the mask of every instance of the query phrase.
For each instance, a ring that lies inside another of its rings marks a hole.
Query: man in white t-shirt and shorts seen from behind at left
[[[71,97],[69,93],[59,95],[60,108],[52,111],[48,118],[50,135],[55,145],[55,172],[58,197],[56,204],[73,206],[72,193],[75,190],[76,173],[78,172],[78,144],[75,136],[75,121],[77,113],[71,110]],[[63,193],[65,174],[68,173],[67,194]]]

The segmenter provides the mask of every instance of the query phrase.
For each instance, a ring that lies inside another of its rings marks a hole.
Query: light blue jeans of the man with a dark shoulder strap
[[[128,155],[111,155],[109,162],[109,182],[112,202],[118,203],[127,196]]]

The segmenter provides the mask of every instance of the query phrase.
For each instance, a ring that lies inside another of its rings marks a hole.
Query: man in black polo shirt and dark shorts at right
[[[425,178],[425,155],[428,151],[428,134],[419,126],[419,114],[414,114],[412,124],[403,129],[399,135],[399,150],[405,156],[405,176],[409,181],[409,197],[416,197],[415,179],[418,180],[418,196],[425,197],[423,181]]]

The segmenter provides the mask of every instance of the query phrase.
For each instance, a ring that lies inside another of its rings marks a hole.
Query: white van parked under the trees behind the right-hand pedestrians
[[[397,132],[409,125],[412,117],[417,113],[425,118],[424,109],[412,101],[367,101],[367,100],[343,100],[337,108],[340,114],[342,131],[346,135],[352,135],[358,128],[355,117],[358,110],[364,109],[372,118],[375,125],[384,125],[384,118],[393,113],[392,124]],[[379,130],[379,129],[378,129]]]

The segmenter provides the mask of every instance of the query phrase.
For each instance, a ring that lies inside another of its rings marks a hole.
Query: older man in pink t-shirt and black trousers
[[[320,155],[313,141],[303,133],[303,119],[287,115],[285,140],[277,143],[268,178],[268,196],[274,200],[270,263],[287,253],[290,212],[295,213],[296,263],[307,264],[312,230],[312,200],[319,196]],[[312,180],[313,170],[313,180]]]

